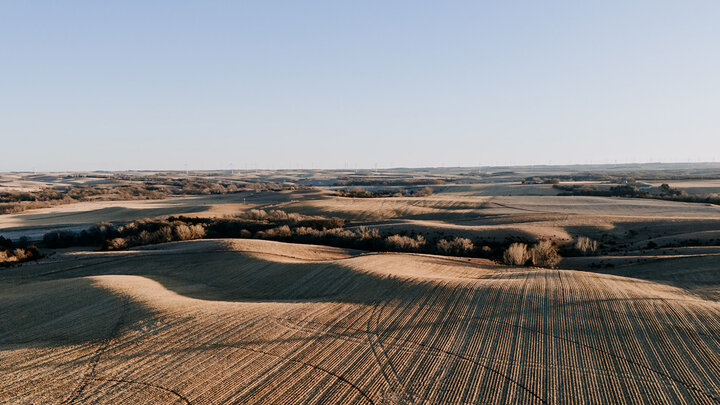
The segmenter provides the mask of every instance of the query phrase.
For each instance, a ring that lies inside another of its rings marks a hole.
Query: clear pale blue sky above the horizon
[[[719,21],[717,0],[0,0],[0,171],[716,161]]]

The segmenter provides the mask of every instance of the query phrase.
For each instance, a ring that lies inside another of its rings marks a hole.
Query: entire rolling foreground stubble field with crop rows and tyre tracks
[[[263,241],[54,260],[0,273],[0,402],[720,402],[720,306],[653,281]]]

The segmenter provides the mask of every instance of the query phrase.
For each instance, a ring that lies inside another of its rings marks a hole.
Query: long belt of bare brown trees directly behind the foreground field
[[[589,256],[598,250],[598,242],[584,236],[561,247],[549,240],[490,242],[437,233],[384,233],[377,228],[349,225],[343,218],[253,209],[226,218],[178,216],[124,225],[98,224],[80,232],[53,231],[45,234],[43,244],[50,248],[96,246],[102,250],[122,250],[202,238],[255,238],[369,251],[482,257],[512,266],[547,268],[554,268],[560,262],[561,251],[563,255]],[[34,255],[31,253],[29,257],[37,257]]]

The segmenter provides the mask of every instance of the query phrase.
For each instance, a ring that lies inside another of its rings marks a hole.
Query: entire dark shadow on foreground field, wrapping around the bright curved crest
[[[228,302],[373,303],[413,284],[332,261],[278,263],[229,251],[123,252],[38,263],[0,274],[0,348],[100,343],[156,316],[132,296],[88,278],[110,275],[142,276],[185,297]]]

